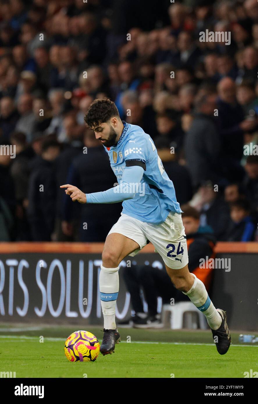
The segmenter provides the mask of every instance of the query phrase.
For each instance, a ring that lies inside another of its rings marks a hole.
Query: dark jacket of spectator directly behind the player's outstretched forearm
[[[85,194],[106,191],[116,183],[110,168],[110,161],[104,148],[88,148],[87,154],[77,156],[68,173],[66,183],[75,185]],[[78,239],[85,242],[103,242],[120,217],[121,202],[115,204],[75,204],[63,195],[61,218],[68,222],[77,221]],[[87,223],[87,229],[83,223]]]

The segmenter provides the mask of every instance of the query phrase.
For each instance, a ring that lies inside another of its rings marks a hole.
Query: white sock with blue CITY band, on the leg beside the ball
[[[100,267],[99,292],[104,317],[104,328],[106,330],[115,330],[116,299],[119,291],[119,267],[105,268],[103,265]]]

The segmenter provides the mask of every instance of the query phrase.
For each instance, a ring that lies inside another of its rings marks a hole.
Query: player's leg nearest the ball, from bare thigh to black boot
[[[131,252],[140,248],[139,244],[119,233],[107,236],[102,252],[102,265],[99,274],[99,292],[104,316],[104,335],[100,351],[103,355],[114,352],[120,341],[116,329],[115,310],[119,290],[119,263]]]

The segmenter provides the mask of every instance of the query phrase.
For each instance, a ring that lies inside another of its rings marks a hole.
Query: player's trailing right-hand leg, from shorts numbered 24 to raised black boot
[[[176,289],[187,295],[207,318],[217,350],[224,355],[231,343],[226,314],[222,309],[216,310],[203,282],[188,270],[187,243],[181,215],[169,214],[160,225],[146,224],[146,236],[161,255]]]

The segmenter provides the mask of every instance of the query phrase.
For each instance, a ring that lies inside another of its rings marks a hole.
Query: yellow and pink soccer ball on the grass
[[[64,353],[70,362],[94,362],[99,355],[99,341],[89,331],[75,331],[67,338]]]

